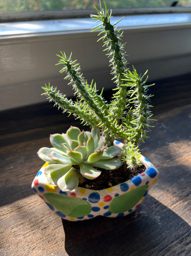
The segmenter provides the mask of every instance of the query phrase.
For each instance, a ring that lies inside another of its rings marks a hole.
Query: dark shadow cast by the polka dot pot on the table
[[[63,220],[63,227],[69,256],[189,255],[190,225],[150,195],[128,216]]]

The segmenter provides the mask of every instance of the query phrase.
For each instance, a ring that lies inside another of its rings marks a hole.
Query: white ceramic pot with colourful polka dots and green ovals
[[[118,141],[114,145],[123,146]],[[121,217],[133,212],[143,202],[158,179],[158,170],[153,164],[143,156],[141,162],[146,171],[124,183],[102,190],[77,187],[69,192],[48,184],[44,175],[48,163],[45,163],[35,176],[32,189],[53,212],[66,220],[87,220],[98,215]]]

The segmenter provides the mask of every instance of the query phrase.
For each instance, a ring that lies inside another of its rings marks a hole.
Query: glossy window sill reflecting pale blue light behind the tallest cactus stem
[[[115,16],[112,22],[115,23],[121,18],[122,16]],[[95,21],[91,18],[7,22],[0,23],[0,39],[19,36],[84,33],[90,32],[94,26]],[[130,15],[125,16],[118,23],[118,26],[123,30],[191,27],[191,13]]]

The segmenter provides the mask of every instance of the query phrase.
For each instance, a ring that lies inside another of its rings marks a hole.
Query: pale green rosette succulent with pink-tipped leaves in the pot
[[[41,148],[38,156],[49,163],[45,168],[48,183],[62,191],[76,188],[80,174],[87,179],[97,178],[101,171],[94,167],[114,170],[122,164],[120,158],[115,158],[120,149],[103,147],[98,127],[90,133],[71,126],[66,134],[51,135],[50,142],[53,148]]]

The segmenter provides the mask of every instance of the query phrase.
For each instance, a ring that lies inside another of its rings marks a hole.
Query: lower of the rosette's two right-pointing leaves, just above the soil
[[[122,165],[122,162],[120,158],[111,158],[108,160],[99,160],[98,162],[92,163],[91,165],[106,170],[115,170]]]

